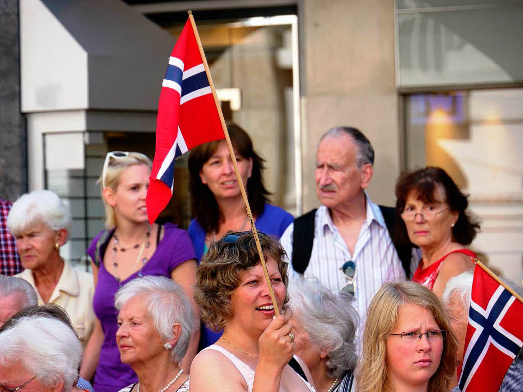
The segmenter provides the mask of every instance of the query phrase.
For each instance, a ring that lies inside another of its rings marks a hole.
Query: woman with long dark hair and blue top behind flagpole
[[[233,123],[229,123],[227,129],[256,228],[279,238],[293,222],[293,216],[268,203],[270,192],[263,180],[265,159],[254,151],[249,135]],[[225,140],[192,148],[189,173],[194,219],[188,232],[200,260],[211,241],[218,241],[228,230],[250,230],[251,225]],[[214,343],[221,335],[210,330],[206,332],[202,334],[206,335],[202,337],[203,347]]]

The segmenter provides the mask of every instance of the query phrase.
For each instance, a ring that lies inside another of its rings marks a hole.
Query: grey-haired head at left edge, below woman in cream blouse
[[[20,310],[37,304],[29,282],[15,276],[0,275],[0,327]]]

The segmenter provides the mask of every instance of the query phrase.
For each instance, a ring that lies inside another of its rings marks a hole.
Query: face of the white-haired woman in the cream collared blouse
[[[31,270],[42,268],[53,252],[54,245],[61,240],[60,232],[51,230],[40,222],[26,228],[16,236],[16,247],[24,268]]]

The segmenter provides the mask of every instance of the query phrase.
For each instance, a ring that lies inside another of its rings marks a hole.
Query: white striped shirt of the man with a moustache
[[[367,199],[367,218],[360,228],[354,255],[351,255],[342,235],[332,222],[326,206],[317,209],[314,219],[314,242],[309,265],[303,276],[315,276],[331,290],[340,290],[347,279],[340,270],[348,260],[356,264],[355,306],[360,317],[365,318],[370,301],[385,282],[404,281],[405,271],[377,204]],[[287,255],[292,255],[292,223],[280,242]],[[289,281],[297,274],[289,261]]]

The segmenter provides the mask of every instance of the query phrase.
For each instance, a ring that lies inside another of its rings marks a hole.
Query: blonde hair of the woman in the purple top
[[[107,169],[105,173],[105,187],[111,188],[113,191],[116,191],[120,185],[120,177],[122,173],[130,166],[133,165],[146,165],[151,169],[151,159],[146,155],[141,153],[129,153],[128,156],[122,158],[108,158],[109,162],[107,163]],[[104,199],[104,179],[102,178],[104,174],[100,174],[97,183],[100,184],[101,190],[101,200],[104,201],[105,205],[105,227],[111,229],[116,226],[116,215],[113,208],[107,204]]]

